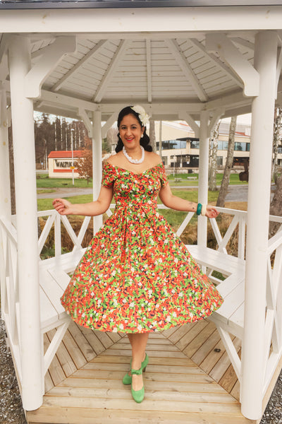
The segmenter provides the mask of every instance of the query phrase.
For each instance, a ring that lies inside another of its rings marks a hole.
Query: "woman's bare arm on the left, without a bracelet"
[[[113,187],[102,186],[96,201],[87,204],[71,204],[66,199],[54,199],[53,206],[61,215],[97,216],[109,209],[113,194]]]

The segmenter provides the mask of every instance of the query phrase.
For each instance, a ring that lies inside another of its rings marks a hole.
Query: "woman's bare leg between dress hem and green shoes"
[[[139,370],[141,363],[145,360],[145,349],[149,333],[130,333],[128,339],[132,348],[132,363],[133,370]],[[130,375],[130,373],[129,373]],[[140,390],[143,386],[142,375],[133,375],[132,387],[133,390]]]

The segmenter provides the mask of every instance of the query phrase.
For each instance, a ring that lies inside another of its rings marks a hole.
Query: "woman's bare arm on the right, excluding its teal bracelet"
[[[175,209],[176,211],[188,211],[196,212],[197,204],[193,201],[188,201],[181,199],[178,196],[174,196],[171,192],[171,187],[169,184],[166,184],[165,187],[162,187],[159,191],[159,198],[167,208]],[[216,211],[214,206],[207,205],[206,216],[208,218],[216,218],[219,215],[219,212]]]

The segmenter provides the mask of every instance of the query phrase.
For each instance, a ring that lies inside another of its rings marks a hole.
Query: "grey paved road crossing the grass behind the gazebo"
[[[197,189],[197,186],[178,186],[173,187],[176,189]],[[56,189],[53,193],[37,194],[37,199],[54,199],[54,197],[71,197],[80,196],[82,194],[91,194],[92,188],[78,189],[78,188],[60,188]],[[228,194],[226,201],[247,201],[247,185],[231,185],[228,187]]]

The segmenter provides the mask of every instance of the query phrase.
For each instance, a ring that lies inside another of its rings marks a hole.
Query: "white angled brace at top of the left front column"
[[[25,76],[25,95],[27,98],[39,98],[44,79],[55,69],[63,54],[75,52],[75,37],[58,37],[46,47],[44,54]]]

